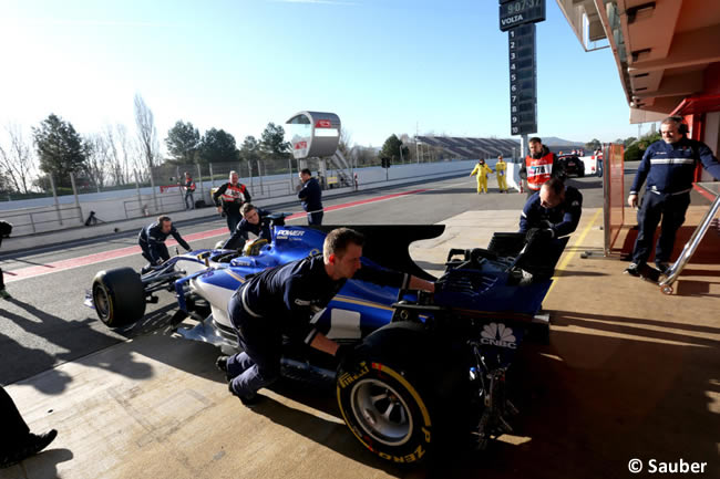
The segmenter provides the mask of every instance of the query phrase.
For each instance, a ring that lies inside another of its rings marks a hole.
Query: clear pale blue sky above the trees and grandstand
[[[50,113],[82,134],[177,119],[240,144],[302,110],[353,143],[392,133],[510,137],[496,0],[0,0],[0,124]],[[608,49],[586,53],[554,0],[537,25],[541,136],[636,136]],[[647,126],[645,128],[647,131]]]

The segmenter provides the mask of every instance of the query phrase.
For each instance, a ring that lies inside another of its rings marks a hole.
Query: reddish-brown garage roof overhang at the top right
[[[587,51],[601,41],[613,49],[630,123],[717,106],[710,97],[720,93],[720,2],[557,0],[557,4]],[[700,101],[703,97],[708,100]]]

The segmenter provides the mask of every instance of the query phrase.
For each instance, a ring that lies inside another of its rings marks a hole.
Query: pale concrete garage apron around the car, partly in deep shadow
[[[580,259],[601,250],[600,222],[584,211],[544,302],[549,344],[524,343],[515,362],[515,434],[485,452],[388,464],[353,438],[332,391],[282,383],[250,410],[228,394],[216,348],[156,332],[7,387],[32,430],[59,436],[0,478],[608,478],[629,476],[634,459],[704,461],[698,476],[720,477],[717,257],[691,261],[688,284],[666,296],[617,259]],[[431,271],[451,247],[515,230],[517,211],[443,223],[411,248]]]

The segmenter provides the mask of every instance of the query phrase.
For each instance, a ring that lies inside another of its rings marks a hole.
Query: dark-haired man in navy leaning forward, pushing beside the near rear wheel
[[[279,377],[284,334],[339,360],[349,357],[352,346],[329,340],[311,323],[348,279],[434,292],[433,283],[416,277],[360,268],[363,241],[354,230],[335,229],[325,239],[322,254],[267,269],[233,294],[228,313],[244,352],[219,356],[216,364],[243,404],[254,404],[257,391]]]

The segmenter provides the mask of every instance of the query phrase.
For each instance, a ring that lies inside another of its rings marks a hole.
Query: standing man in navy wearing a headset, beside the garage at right
[[[690,190],[698,162],[716,179],[720,178],[718,158],[704,143],[686,137],[688,127],[682,118],[670,116],[660,124],[662,139],[648,146],[632,181],[628,205],[638,206],[638,191],[647,179],[642,205],[638,211],[638,237],[630,265],[625,270],[634,277],[650,257],[655,230],[660,223],[660,237],[655,250],[655,264],[660,272],[669,269],[675,237],[685,222],[690,206]]]

